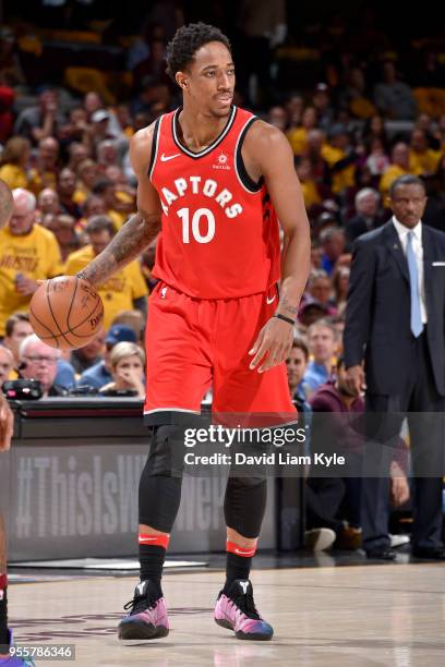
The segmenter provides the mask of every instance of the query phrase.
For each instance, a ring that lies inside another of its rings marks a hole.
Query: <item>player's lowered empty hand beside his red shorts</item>
[[[251,371],[260,364],[257,372],[264,373],[286,361],[292,347],[292,340],[293,327],[277,317],[270,317],[249,352],[255,355],[249,366]]]

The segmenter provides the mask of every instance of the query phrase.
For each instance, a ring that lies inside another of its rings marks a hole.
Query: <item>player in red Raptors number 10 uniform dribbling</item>
[[[212,381],[214,413],[294,419],[284,362],[310,265],[291,148],[279,130],[232,105],[227,37],[203,23],[183,26],[167,64],[183,106],[131,141],[139,213],[79,274],[103,282],[161,231],[146,330],[145,420],[153,435],[140,483],[141,583],[119,626],[121,639],[168,634],[160,579],[180,504],[171,458],[181,417],[200,412]],[[229,477],[227,578],[215,620],[243,640],[273,635],[249,580],[265,502],[265,478]]]

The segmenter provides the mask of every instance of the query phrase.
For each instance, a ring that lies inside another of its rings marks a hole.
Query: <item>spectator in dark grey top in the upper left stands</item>
[[[58,95],[56,90],[48,88],[40,93],[38,106],[28,107],[19,114],[14,134],[28,138],[36,145],[41,140],[57,136],[62,124],[63,116],[59,111]]]

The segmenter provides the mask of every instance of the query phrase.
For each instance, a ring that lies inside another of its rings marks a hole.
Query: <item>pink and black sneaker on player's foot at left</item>
[[[131,611],[119,623],[119,639],[149,640],[167,636],[170,630],[167,608],[159,589],[152,581],[142,581],[124,609]]]

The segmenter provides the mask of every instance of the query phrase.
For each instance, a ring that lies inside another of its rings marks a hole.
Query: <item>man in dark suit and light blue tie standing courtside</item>
[[[392,219],[356,241],[344,338],[350,388],[359,392],[365,379],[372,434],[363,470],[363,548],[371,558],[395,558],[387,466],[405,413],[416,485],[412,554],[444,560],[445,234],[421,222],[426,197],[418,178],[397,179],[389,199]]]

